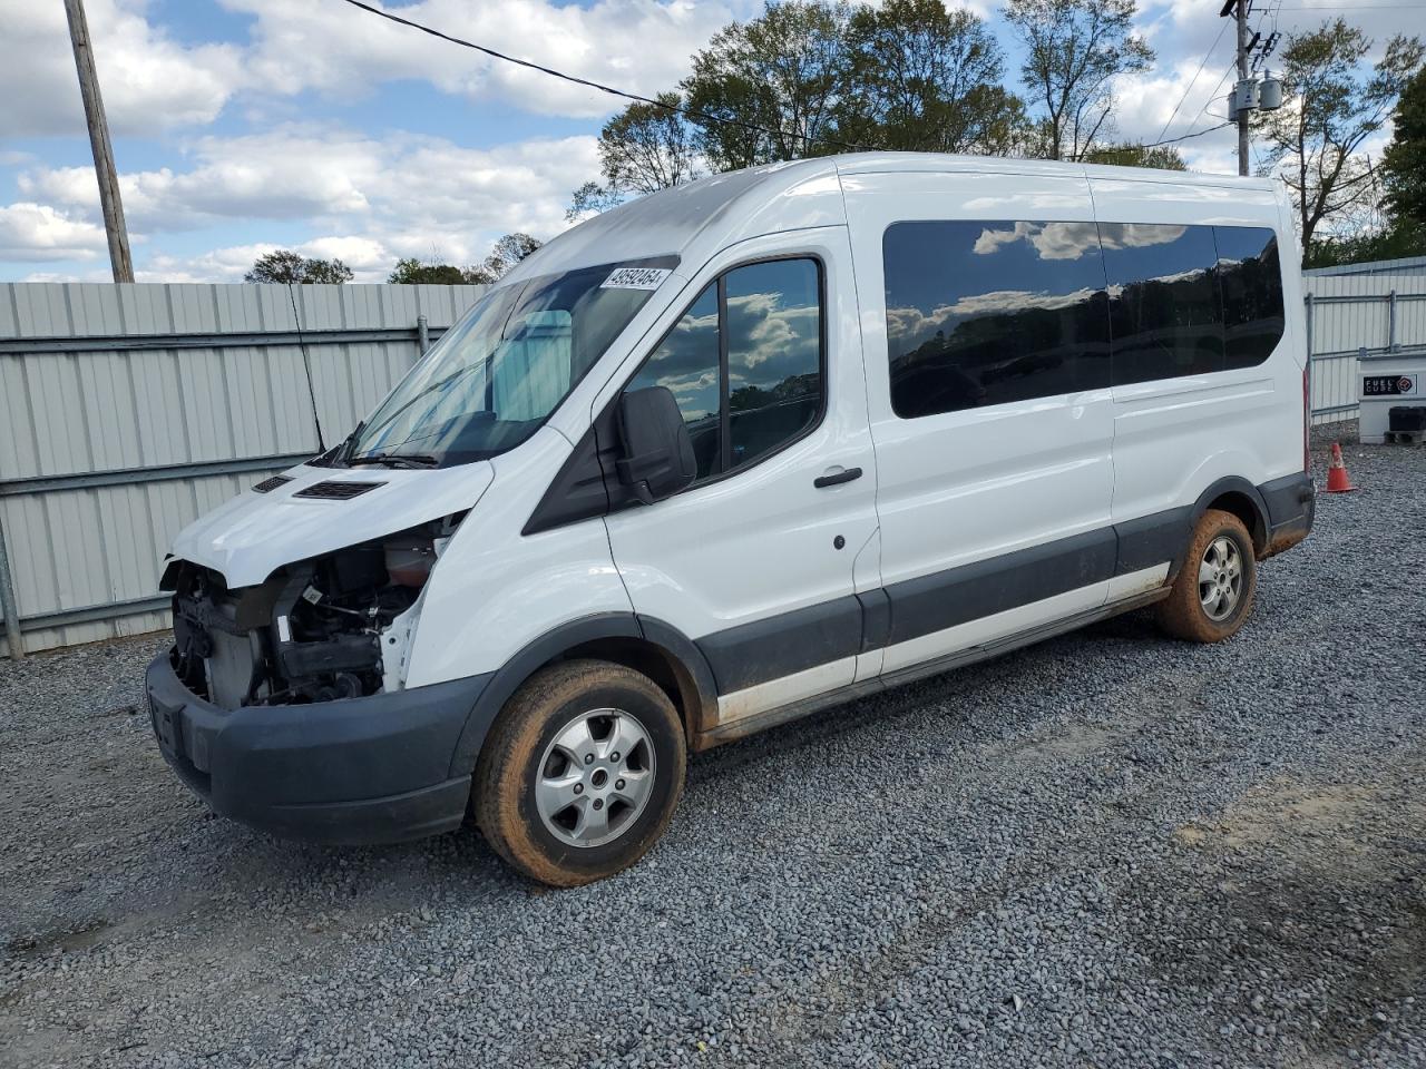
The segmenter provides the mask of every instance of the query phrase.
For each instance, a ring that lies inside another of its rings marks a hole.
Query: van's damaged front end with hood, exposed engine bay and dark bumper
[[[365,532],[418,495],[478,497],[489,475],[465,469],[463,492],[439,486],[455,482],[443,473],[401,475],[405,486],[302,466],[175,543],[163,577],[174,644],[148,668],[148,704],[164,758],[217,812],[322,842],[463,820],[469,775],[449,761],[482,678],[408,690],[405,677],[425,589],[466,510]],[[344,533],[359,540],[279,562]]]

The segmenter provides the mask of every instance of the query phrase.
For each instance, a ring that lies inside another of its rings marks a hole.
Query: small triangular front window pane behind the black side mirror
[[[699,479],[722,470],[717,282],[693,302],[625,389],[667,386],[693,439]]]

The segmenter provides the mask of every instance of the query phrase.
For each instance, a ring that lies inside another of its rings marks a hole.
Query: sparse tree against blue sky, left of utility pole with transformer
[[[1021,81],[1047,125],[1051,160],[1078,160],[1108,133],[1112,81],[1148,70],[1154,50],[1134,36],[1134,0],[1010,0],[1004,16],[1025,58]]]

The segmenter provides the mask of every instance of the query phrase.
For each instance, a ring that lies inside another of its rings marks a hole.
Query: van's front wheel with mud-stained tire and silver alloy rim
[[[506,703],[475,771],[475,821],[542,884],[613,875],[659,840],[683,792],[683,725],[669,697],[620,664],[540,670]]]

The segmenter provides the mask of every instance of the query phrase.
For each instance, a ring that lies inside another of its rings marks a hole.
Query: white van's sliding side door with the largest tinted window
[[[1108,298],[1088,182],[844,175],[877,453],[883,673],[1104,604]]]

